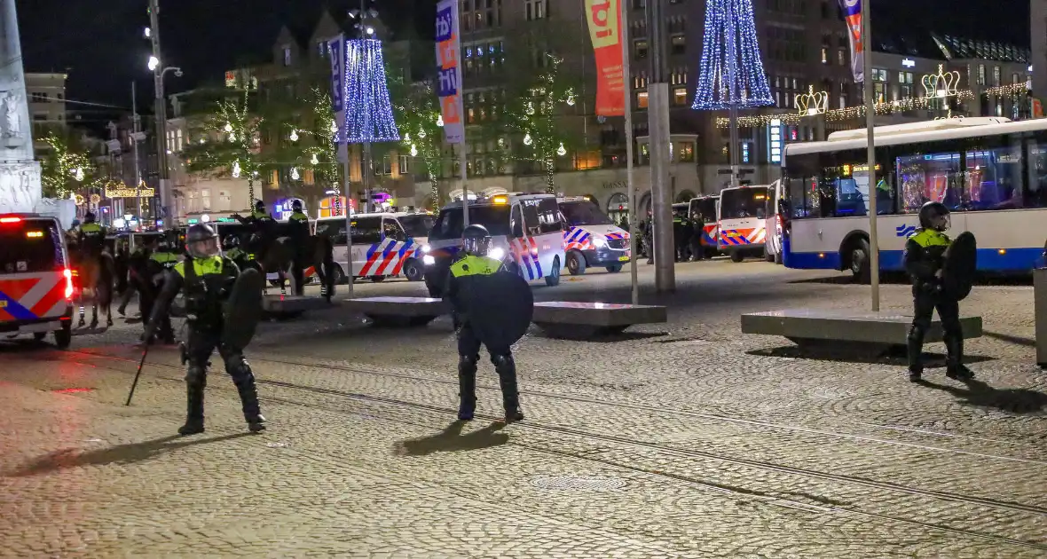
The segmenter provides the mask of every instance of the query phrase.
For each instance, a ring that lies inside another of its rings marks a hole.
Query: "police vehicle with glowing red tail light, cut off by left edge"
[[[37,214],[0,215],[0,333],[54,333],[61,349],[72,340],[72,268],[62,225]]]

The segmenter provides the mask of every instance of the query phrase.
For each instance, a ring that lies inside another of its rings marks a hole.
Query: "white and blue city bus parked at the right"
[[[786,267],[869,277],[866,131],[785,147],[781,192]],[[978,269],[1024,273],[1047,240],[1047,119],[952,118],[875,130],[879,269],[903,270],[928,201],[952,210],[950,234],[978,240]]]

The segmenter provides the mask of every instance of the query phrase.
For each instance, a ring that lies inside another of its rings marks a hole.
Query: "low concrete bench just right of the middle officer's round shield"
[[[633,325],[667,320],[665,307],[574,301],[535,303],[531,318],[548,335],[558,338],[621,334]]]

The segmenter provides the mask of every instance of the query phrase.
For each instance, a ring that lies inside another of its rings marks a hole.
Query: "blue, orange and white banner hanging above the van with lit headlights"
[[[437,95],[447,143],[465,141],[459,39],[458,0],[441,0],[437,4]]]

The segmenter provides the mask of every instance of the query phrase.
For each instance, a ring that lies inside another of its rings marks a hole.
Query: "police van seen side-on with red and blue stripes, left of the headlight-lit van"
[[[422,247],[428,243],[432,217],[424,213],[354,214],[353,277],[381,282],[403,275],[421,282],[425,270]],[[346,281],[349,255],[346,249],[346,217],[319,218],[316,234],[330,237],[334,245],[335,282]]]

